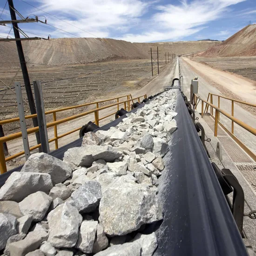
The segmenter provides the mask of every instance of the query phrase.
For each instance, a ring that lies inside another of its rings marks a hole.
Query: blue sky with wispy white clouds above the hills
[[[0,0],[2,20],[10,20],[6,2]],[[30,37],[226,40],[256,23],[256,0],[13,0],[13,4],[24,17],[47,19],[47,24],[19,24]],[[0,26],[0,37],[7,35],[14,37],[11,24]]]

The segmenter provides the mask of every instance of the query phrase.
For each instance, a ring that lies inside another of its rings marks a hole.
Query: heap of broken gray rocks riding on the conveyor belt
[[[116,127],[84,136],[63,161],[31,155],[0,189],[0,252],[10,256],[152,256],[163,156],[177,129],[165,92]]]

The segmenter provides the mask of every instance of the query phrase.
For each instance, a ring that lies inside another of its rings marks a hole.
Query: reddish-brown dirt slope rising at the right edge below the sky
[[[256,24],[244,27],[223,43],[210,47],[200,57],[233,57],[256,55]]]

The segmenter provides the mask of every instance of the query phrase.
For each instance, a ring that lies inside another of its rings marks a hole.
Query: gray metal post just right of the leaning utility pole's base
[[[41,82],[33,81],[33,85],[34,85],[35,105],[36,105],[42,152],[49,153],[50,148],[49,148],[47,127],[46,127],[46,118],[45,118],[44,100],[43,100]]]

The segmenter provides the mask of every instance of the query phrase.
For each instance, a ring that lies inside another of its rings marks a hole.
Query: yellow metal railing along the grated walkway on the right
[[[218,97],[218,107],[213,105],[213,98],[212,96],[217,96]],[[209,100],[210,98],[210,101]],[[224,110],[222,110],[220,108],[220,98],[224,98],[224,99],[228,99],[230,101],[232,101],[231,103],[231,115],[227,112],[225,112]],[[243,103],[245,105],[248,106],[252,106],[252,107],[256,107],[255,104],[251,104],[251,103],[247,103],[247,102],[243,102],[243,101],[238,101],[235,99],[231,99],[231,98],[227,98],[227,97],[223,97],[221,95],[217,95],[217,94],[208,94],[208,98],[207,101],[203,100],[200,98],[200,96],[197,96],[194,94],[194,102],[196,103],[195,106],[198,104],[197,101],[202,101],[202,111],[201,111],[201,116],[203,118],[203,113],[208,113],[208,109],[210,107],[210,115],[212,115],[212,117],[215,120],[215,124],[214,124],[214,136],[216,137],[218,135],[218,125],[220,125],[238,144],[239,146],[241,146],[248,155],[250,155],[254,161],[256,161],[256,155],[251,152],[251,150],[249,148],[247,148],[235,135],[234,135],[234,122],[236,124],[238,124],[239,126],[241,126],[242,128],[244,128],[245,130],[247,130],[248,132],[250,132],[253,135],[256,135],[256,129],[249,126],[248,124],[244,123],[243,121],[237,119],[236,117],[234,117],[234,102],[239,102],[239,103]],[[204,108],[204,103],[205,103],[205,109]],[[214,109],[215,109],[215,115],[214,115]],[[229,118],[232,122],[232,126],[231,126],[231,132],[229,131],[228,128],[226,128],[219,120],[220,120],[220,113],[224,116],[226,116],[227,118]]]

